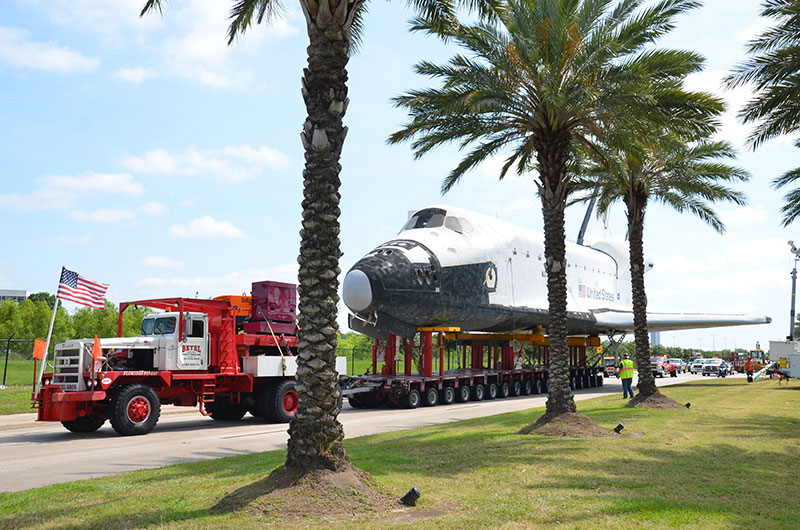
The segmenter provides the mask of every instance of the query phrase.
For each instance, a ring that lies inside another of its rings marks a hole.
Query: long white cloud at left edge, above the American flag
[[[84,197],[101,195],[136,196],[144,187],[127,173],[87,173],[79,177],[50,175],[36,179],[37,189],[28,194],[0,195],[0,207],[11,210],[62,210]]]

